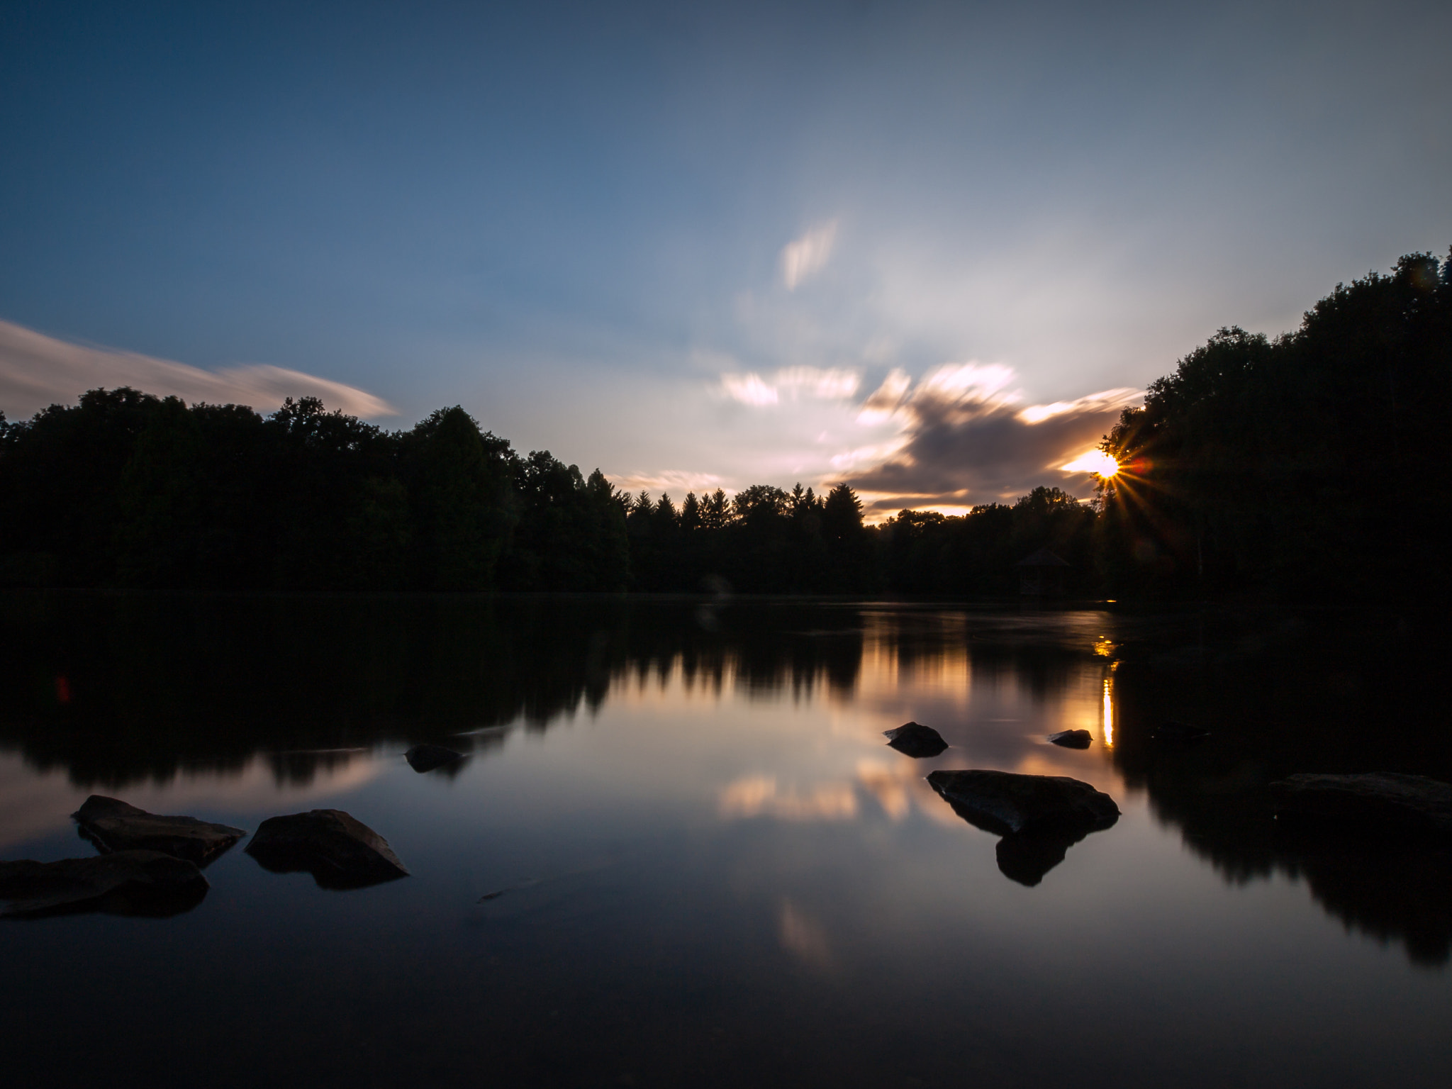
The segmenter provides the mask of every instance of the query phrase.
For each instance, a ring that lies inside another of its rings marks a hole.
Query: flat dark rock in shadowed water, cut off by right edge
[[[1278,815],[1329,825],[1452,835],[1452,784],[1423,775],[1291,775],[1270,784]]]

